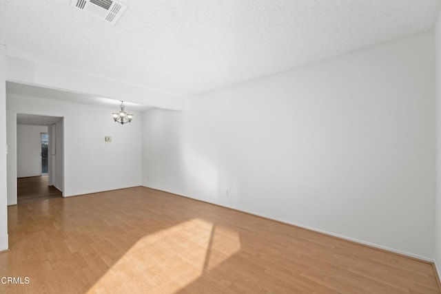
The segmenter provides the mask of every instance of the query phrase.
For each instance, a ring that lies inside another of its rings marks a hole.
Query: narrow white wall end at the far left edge
[[[0,251],[8,249],[6,178],[6,46],[0,44]]]

